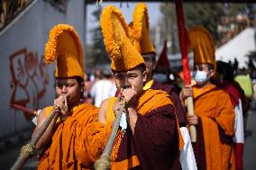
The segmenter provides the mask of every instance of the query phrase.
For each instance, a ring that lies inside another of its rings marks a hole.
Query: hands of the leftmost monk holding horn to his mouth
[[[57,99],[54,100],[54,105],[59,107],[60,117],[67,117],[69,114],[68,107],[68,96],[67,95],[59,95]]]

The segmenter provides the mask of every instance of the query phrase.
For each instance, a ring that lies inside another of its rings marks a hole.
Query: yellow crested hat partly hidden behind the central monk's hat
[[[141,54],[156,53],[150,36],[150,22],[148,7],[144,3],[138,3],[133,11],[133,22],[129,24],[134,47]]]

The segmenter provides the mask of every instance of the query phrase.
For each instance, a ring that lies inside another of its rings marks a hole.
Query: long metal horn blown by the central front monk
[[[94,165],[96,170],[109,170],[111,169],[110,164],[110,156],[112,152],[112,148],[114,146],[114,139],[117,133],[117,130],[120,125],[120,120],[122,117],[122,113],[125,106],[125,101],[123,98],[121,98],[121,108],[118,111],[117,117],[115,118],[114,125],[112,126],[110,138],[108,139],[103,154],[99,157],[99,159],[96,160],[96,163]]]

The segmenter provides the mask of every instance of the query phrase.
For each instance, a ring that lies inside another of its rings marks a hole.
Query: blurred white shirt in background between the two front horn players
[[[116,87],[114,85],[114,82],[111,82],[107,79],[102,79],[97,81],[91,89],[91,96],[95,99],[95,106],[99,107],[100,103],[109,98],[114,97],[114,94],[116,92]]]

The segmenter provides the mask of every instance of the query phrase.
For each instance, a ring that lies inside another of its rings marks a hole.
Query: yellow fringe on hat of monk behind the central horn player
[[[143,17],[145,17],[146,29],[150,30],[148,7],[144,3],[136,4],[133,12],[133,39],[140,41],[142,39],[142,29],[143,29]]]

